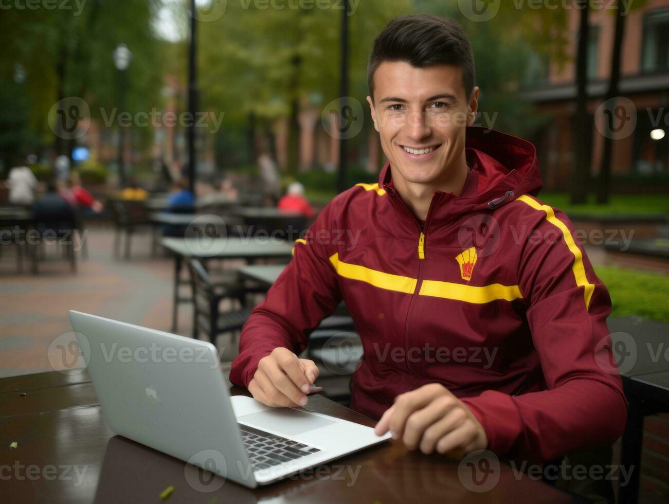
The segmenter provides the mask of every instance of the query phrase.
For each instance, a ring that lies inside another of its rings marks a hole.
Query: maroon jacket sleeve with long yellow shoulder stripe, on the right
[[[609,292],[567,216],[531,201],[541,220],[521,246],[518,283],[547,390],[488,390],[463,402],[484,427],[490,450],[550,460],[612,444],[625,428],[627,400],[606,325]]]

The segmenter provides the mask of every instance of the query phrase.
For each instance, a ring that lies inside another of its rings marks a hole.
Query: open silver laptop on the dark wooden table
[[[206,341],[78,311],[70,322],[114,432],[247,487],[390,437],[304,408],[230,397]]]

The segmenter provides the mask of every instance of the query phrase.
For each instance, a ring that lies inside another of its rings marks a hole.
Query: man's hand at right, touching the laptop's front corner
[[[426,454],[456,449],[469,453],[488,446],[488,437],[476,416],[441,384],[399,394],[374,429],[377,436],[388,430],[409,450],[420,448]]]

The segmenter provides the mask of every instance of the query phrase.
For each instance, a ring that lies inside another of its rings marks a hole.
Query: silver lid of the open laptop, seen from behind
[[[78,311],[70,322],[114,432],[257,486],[211,343]]]

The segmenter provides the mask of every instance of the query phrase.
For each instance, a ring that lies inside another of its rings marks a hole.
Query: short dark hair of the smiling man
[[[452,19],[434,14],[395,17],[374,40],[367,64],[367,86],[374,100],[374,72],[383,62],[407,62],[417,68],[454,65],[462,71],[462,86],[469,98],[476,69],[467,35]]]

